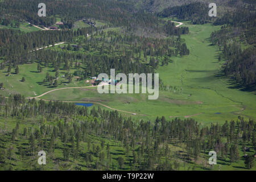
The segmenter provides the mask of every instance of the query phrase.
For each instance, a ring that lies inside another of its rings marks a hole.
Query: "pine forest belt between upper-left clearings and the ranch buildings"
[[[102,28],[87,27],[78,30],[35,31],[24,34],[20,31],[0,29],[0,56],[4,57],[0,69],[18,68],[19,64],[39,63],[38,72],[42,67],[54,67],[69,71],[79,69],[75,76],[80,80],[108,73],[115,68],[122,73],[154,73],[158,65],[168,64],[172,56],[189,55],[187,46],[180,38],[187,34],[188,28],[177,28],[174,23],[167,23],[165,30],[168,38],[150,38],[137,36],[133,32],[117,33],[102,31]],[[88,37],[88,35],[90,35]],[[59,42],[68,46],[55,49],[40,49]],[[71,46],[75,44],[75,46]],[[91,52],[96,52],[91,54]],[[74,75],[66,75],[70,81]],[[53,85],[53,78],[42,82]]]

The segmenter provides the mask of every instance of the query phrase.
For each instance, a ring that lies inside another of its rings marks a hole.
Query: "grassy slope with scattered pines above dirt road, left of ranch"
[[[9,94],[14,93],[20,93],[23,94],[25,97],[35,97],[38,96],[44,92],[47,92],[49,90],[52,90],[54,88],[51,88],[46,83],[43,83],[42,81],[46,77],[46,73],[49,72],[49,75],[54,76],[55,72],[53,72],[54,68],[43,68],[43,71],[41,73],[38,73],[37,71],[37,64],[24,64],[19,65],[19,74],[16,75],[14,73],[14,68],[11,71],[10,76],[6,76],[7,72],[6,70],[0,71],[0,80],[3,82],[5,86],[5,90],[0,90],[0,94],[5,94],[5,96],[8,96]],[[70,73],[75,72],[76,69],[71,69]],[[75,78],[73,78],[73,81],[71,83],[67,83],[67,78],[61,78],[61,76],[65,75],[65,72],[60,70],[59,71],[59,79],[58,82],[63,81],[63,84],[59,85],[58,88],[64,88],[64,87],[73,87],[73,86],[88,86],[84,81],[76,81]],[[20,80],[24,77],[26,79],[25,82],[21,82]],[[64,85],[67,84],[67,85]],[[36,94],[35,94],[36,93]]]

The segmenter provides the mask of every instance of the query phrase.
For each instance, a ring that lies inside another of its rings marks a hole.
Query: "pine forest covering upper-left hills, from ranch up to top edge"
[[[8,26],[15,20],[16,24],[12,27],[18,27],[18,23],[24,21],[47,27],[56,22],[55,15],[58,15],[64,23],[60,26],[62,30],[24,34],[17,30],[1,28],[1,69],[10,70],[19,64],[35,61],[40,64],[38,71],[40,67],[55,67],[55,71],[59,71],[61,67],[69,70],[74,65],[82,69],[76,72],[76,76],[83,79],[106,72],[109,68],[124,73],[154,73],[159,63],[165,65],[171,61],[167,57],[189,55],[187,46],[180,39],[180,35],[188,34],[188,27],[177,28],[174,23],[159,21],[157,16],[140,9],[132,9],[127,3],[106,1],[102,7],[101,1],[74,0],[56,3],[49,0],[46,1],[47,17],[39,17],[36,14],[38,7],[34,5],[38,3],[39,1],[31,3],[27,0],[0,2],[0,23]],[[73,29],[76,20],[90,18],[104,20],[110,27],[122,26],[125,31],[122,35],[106,35],[101,31],[105,26]],[[156,34],[161,36],[156,38]],[[88,35],[90,37],[86,38]],[[164,39],[166,37],[167,39]],[[68,46],[58,51],[34,51],[60,42],[68,43]],[[71,43],[77,46],[73,48]],[[92,50],[98,51],[100,55],[91,55]],[[71,76],[67,75],[67,78]]]

